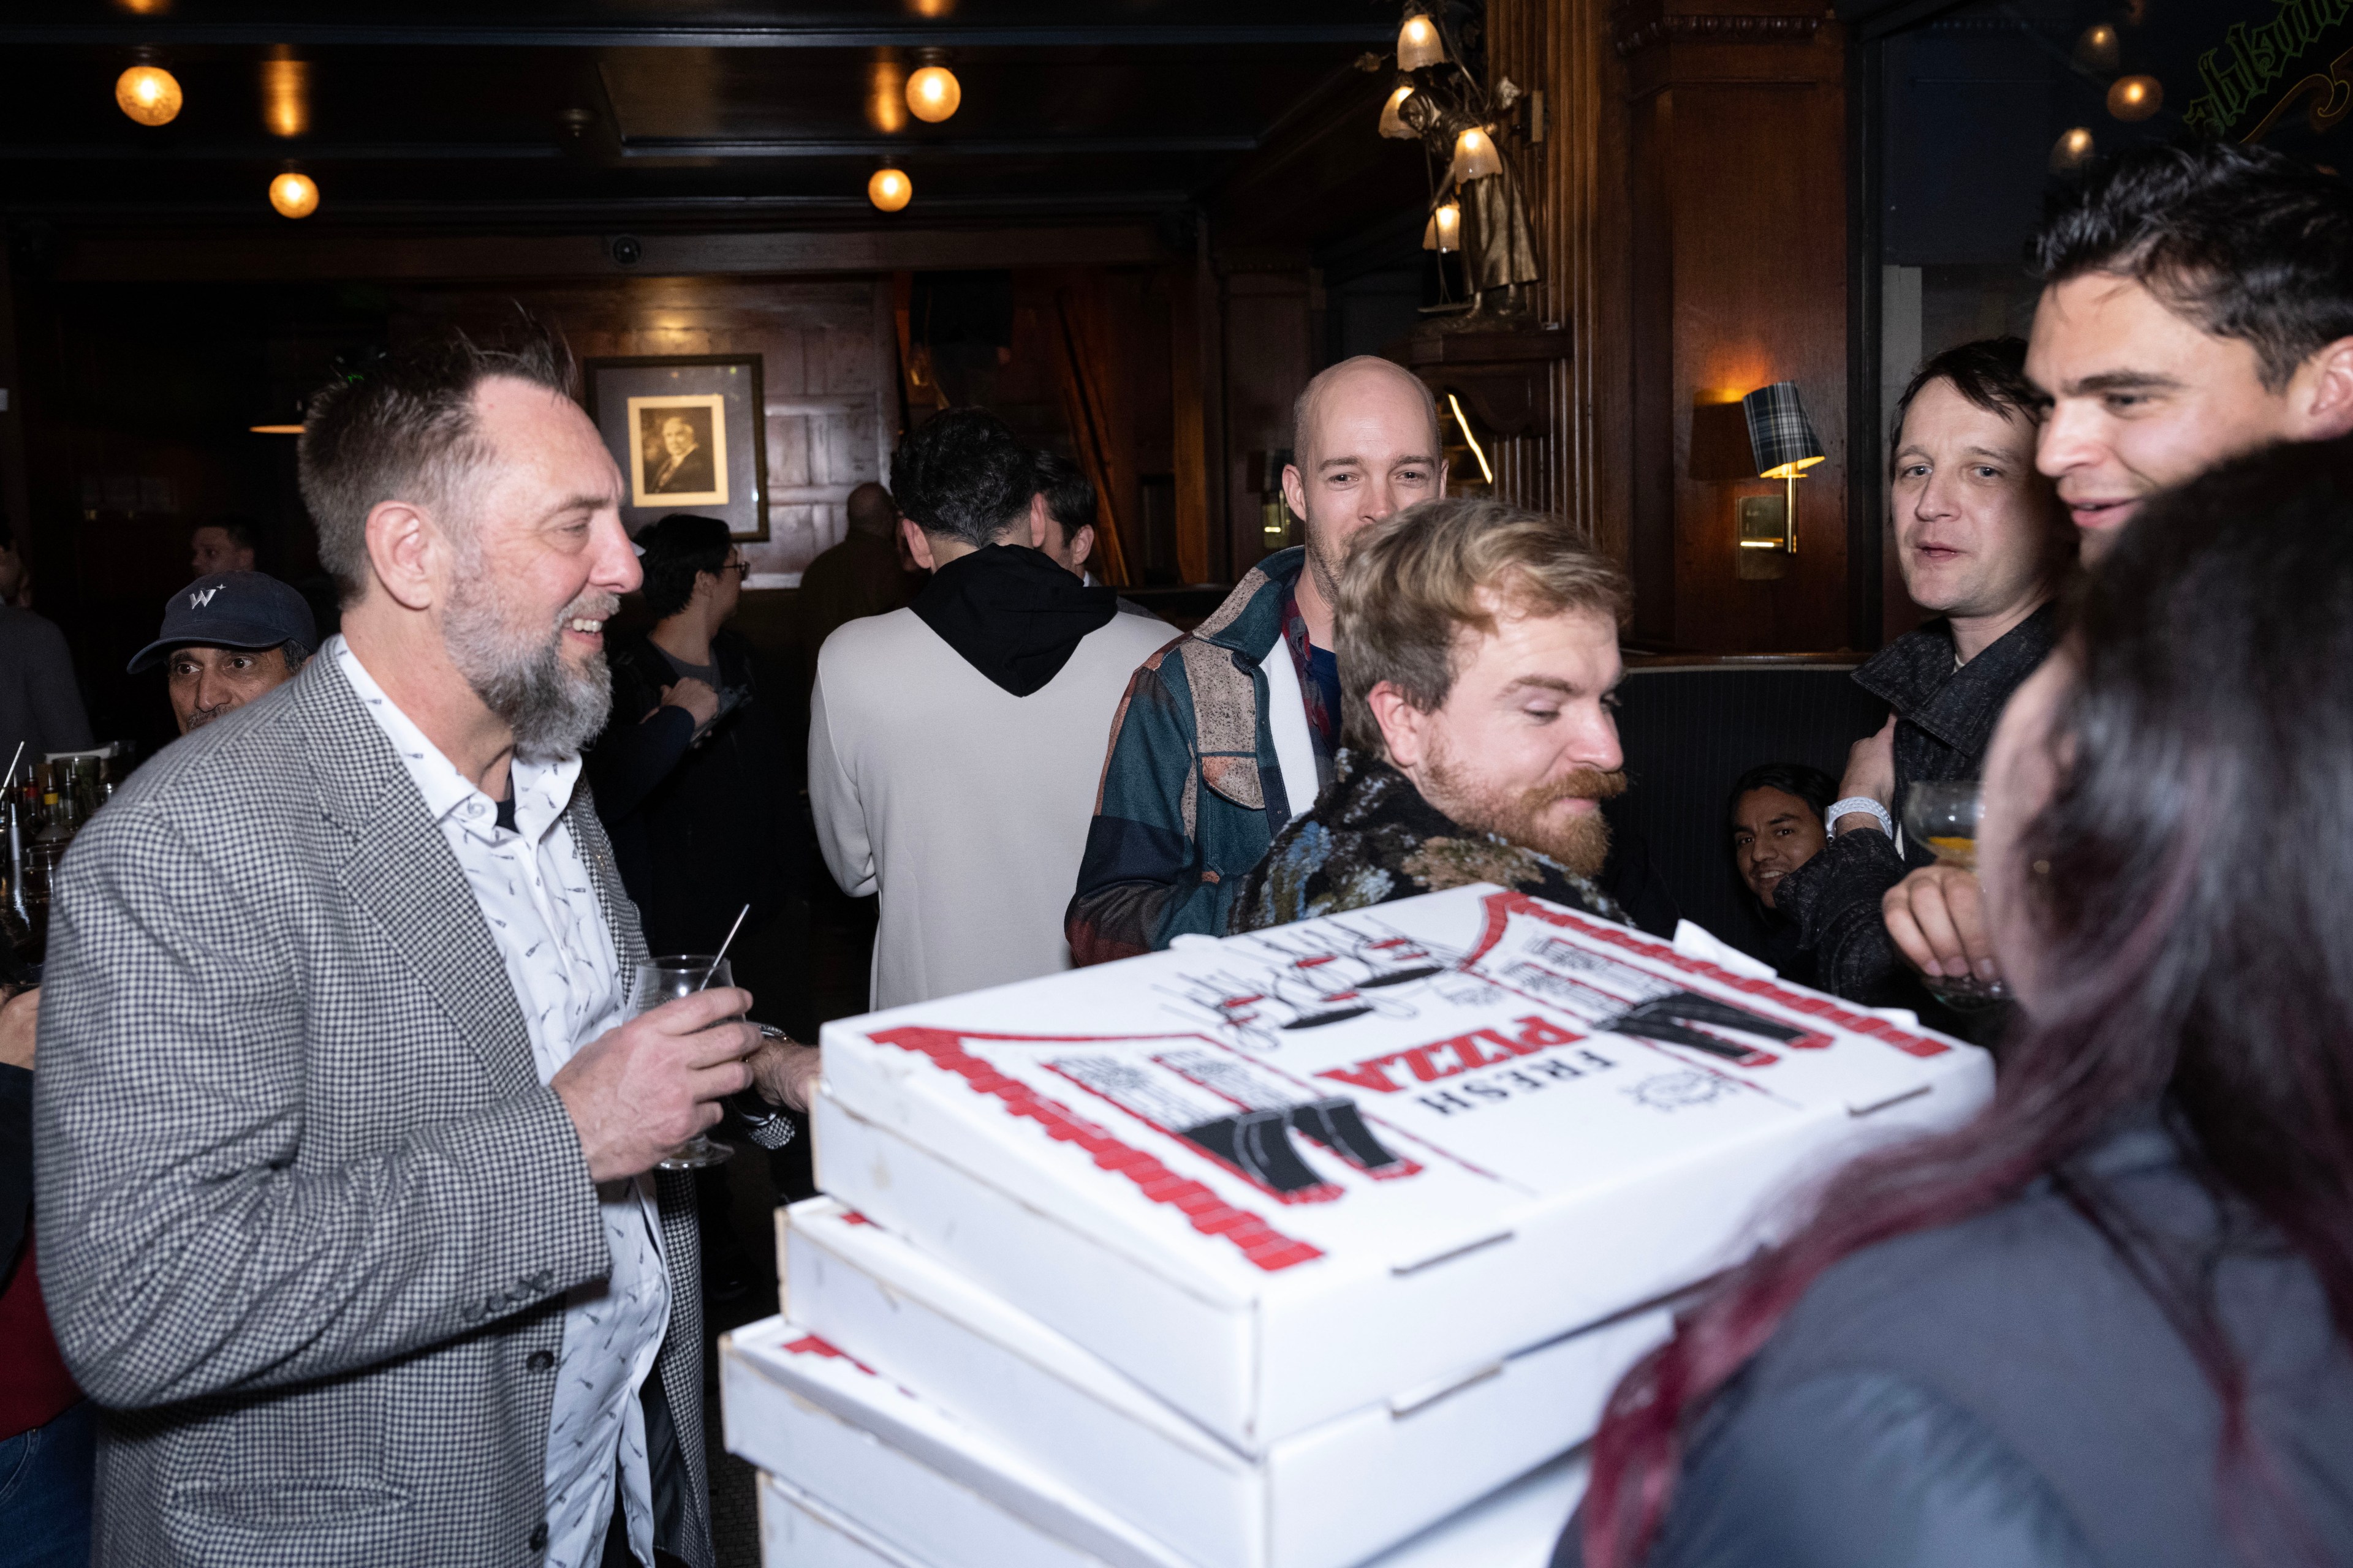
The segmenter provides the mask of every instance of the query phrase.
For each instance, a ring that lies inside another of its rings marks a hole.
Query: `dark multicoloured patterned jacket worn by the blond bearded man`
[[[1591,877],[1478,827],[1464,827],[1377,757],[1341,750],[1315,809],[1275,835],[1242,879],[1231,931],[1287,926],[1468,882],[1624,922]]]

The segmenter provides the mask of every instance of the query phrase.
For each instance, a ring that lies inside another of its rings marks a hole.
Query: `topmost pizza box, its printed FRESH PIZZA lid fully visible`
[[[816,1180],[1245,1453],[1666,1298],[1984,1051],[1466,886],[824,1030]]]

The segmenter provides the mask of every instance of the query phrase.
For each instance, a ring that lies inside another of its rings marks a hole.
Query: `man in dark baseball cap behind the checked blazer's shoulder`
[[[299,592],[261,571],[214,571],[165,599],[162,630],[129,668],[165,665],[186,736],[294,679],[313,646],[318,625]]]

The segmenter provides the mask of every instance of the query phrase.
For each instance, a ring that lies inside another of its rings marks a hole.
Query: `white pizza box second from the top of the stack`
[[[1527,1347],[1249,1458],[835,1199],[784,1227],[786,1312],[1193,1563],[1346,1568],[1581,1443],[1666,1307]]]

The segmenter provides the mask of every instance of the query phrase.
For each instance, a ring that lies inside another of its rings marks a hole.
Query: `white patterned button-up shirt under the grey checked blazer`
[[[628,1018],[628,985],[605,910],[562,823],[581,759],[518,757],[511,769],[515,830],[499,827],[499,804],[384,696],[341,635],[320,654],[334,658],[407,762],[506,959],[539,1081],[553,1079],[581,1046]],[[548,1568],[593,1568],[612,1523],[616,1472],[628,1547],[640,1563],[654,1561],[654,1488],[638,1387],[652,1375],[671,1321],[671,1276],[661,1262],[652,1182],[642,1175],[605,1182],[598,1199],[612,1276],[579,1286],[565,1302],[565,1354],[548,1413]]]

